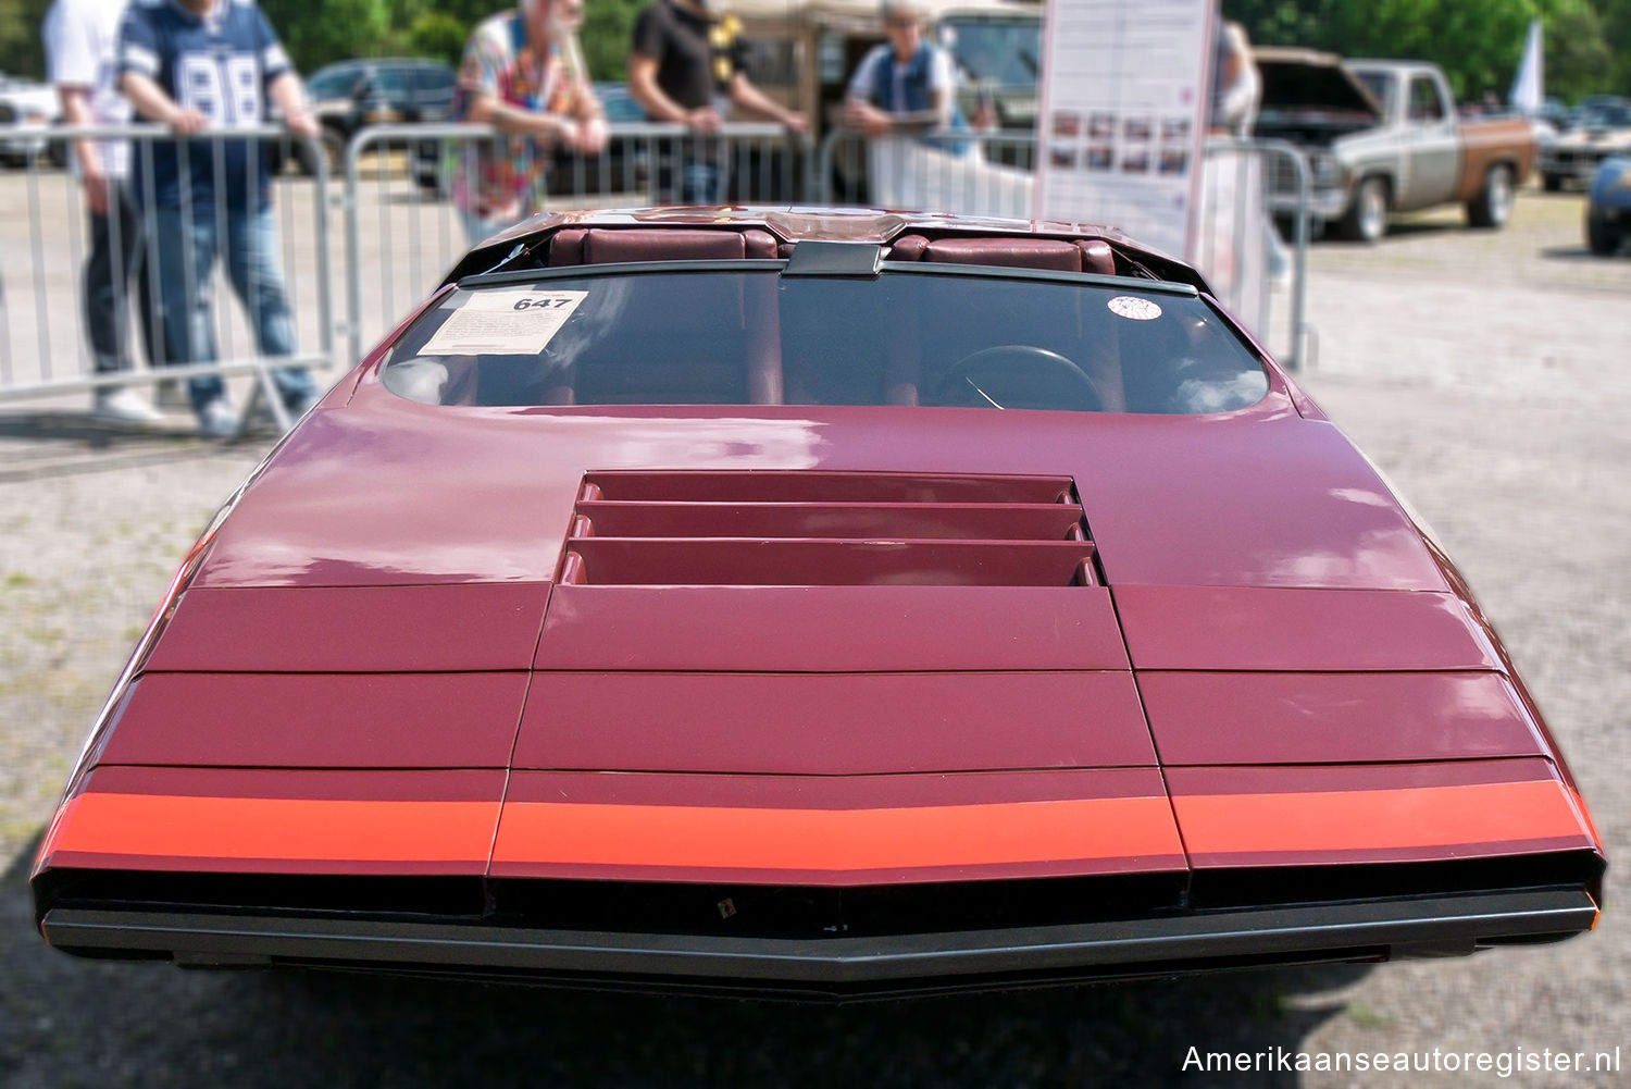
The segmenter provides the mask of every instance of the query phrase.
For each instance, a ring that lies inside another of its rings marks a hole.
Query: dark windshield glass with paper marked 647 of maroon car
[[[889,273],[574,274],[458,289],[383,382],[442,405],[925,405],[1207,413],[1267,376],[1192,296]]]

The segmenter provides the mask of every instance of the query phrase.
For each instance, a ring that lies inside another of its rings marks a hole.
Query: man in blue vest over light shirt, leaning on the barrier
[[[902,131],[966,129],[951,54],[923,36],[917,0],[884,0],[884,34],[850,77],[845,124],[871,137]]]

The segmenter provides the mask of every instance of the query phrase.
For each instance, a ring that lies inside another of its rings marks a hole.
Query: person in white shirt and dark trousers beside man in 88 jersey
[[[122,126],[130,103],[114,87],[114,51],[126,0],[57,0],[46,13],[46,62],[70,126]],[[73,170],[80,178],[88,222],[80,305],[96,374],[135,367],[130,351],[130,291],[147,346],[157,366],[153,297],[145,263],[144,222],[129,186],[130,149],[119,140],[73,140]],[[158,411],[135,390],[103,385],[91,415],[121,424],[148,424]]]

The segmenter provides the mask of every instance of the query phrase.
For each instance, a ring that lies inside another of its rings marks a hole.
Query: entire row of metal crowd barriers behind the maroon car
[[[130,222],[142,243],[127,261],[113,263],[111,291],[99,297],[104,304],[111,300],[114,310],[129,309],[147,322],[135,323],[144,330],[140,336],[129,322],[113,323],[111,354],[134,367],[106,371],[101,367],[108,366],[109,348],[93,344],[86,331],[86,318],[96,315],[86,292],[85,258],[91,240],[80,184],[73,173],[47,173],[47,163],[65,157],[67,140],[124,140],[134,150],[132,183],[152,188],[153,152],[178,137],[160,126],[60,127],[52,137],[59,142],[29,152],[21,175],[0,171],[0,253],[28,255],[21,269],[15,258],[0,263],[0,402],[197,376],[251,376],[251,397],[264,398],[282,426],[289,418],[277,395],[279,371],[351,366],[424,299],[473,242],[525,212],[814,202],[1029,217],[1036,163],[1034,137],[1013,132],[866,140],[835,131],[812,155],[806,140],[789,139],[768,124],[731,124],[708,136],[669,124],[617,124],[605,153],[550,152],[548,162],[540,163],[545,152],[530,139],[486,126],[375,126],[357,132],[344,149],[344,184],[333,186],[331,160],[316,140],[272,127],[210,132],[183,144],[209,149],[215,191],[225,184],[233,145],[251,149],[256,162],[263,153],[277,160],[271,191],[279,237],[272,248],[284,268],[289,336],[267,344],[254,292],[246,294],[243,307],[225,305],[232,279],[225,268],[215,274],[206,269],[201,282],[192,248],[181,243],[199,227],[222,235],[228,202],[191,207],[183,199],[163,230],[152,207],[134,212]],[[1279,292],[1262,266],[1275,256],[1279,243],[1266,180],[1288,171],[1297,186],[1295,207],[1306,211],[1306,162],[1295,147],[1269,140],[1212,142],[1207,158],[1209,199],[1200,211],[1199,263],[1220,300],[1266,341],[1284,343],[1279,354],[1297,369],[1311,335],[1305,318],[1308,219],[1292,217],[1285,291],[1290,305],[1284,322],[1271,320],[1269,304]],[[183,155],[181,162],[191,163],[191,157]],[[285,162],[302,171],[282,173]],[[493,194],[517,193],[511,188],[517,178],[532,180],[537,188],[524,184],[524,199],[515,207],[497,207]],[[243,184],[254,181],[246,173]],[[191,186],[183,184],[181,191],[191,193]],[[329,216],[336,212],[344,224],[343,305],[336,304],[329,245]],[[122,222],[117,216],[108,219],[113,232]],[[126,253],[117,238],[111,248]],[[161,266],[176,279],[176,251],[184,268],[175,291],[161,289],[157,282],[161,278],[135,274],[137,264]],[[178,297],[214,299],[204,310],[202,338],[219,343],[219,354],[201,353],[196,343],[178,348],[163,333],[166,309],[173,323],[176,307],[184,305]],[[1271,328],[1282,325],[1287,336],[1271,336]]]

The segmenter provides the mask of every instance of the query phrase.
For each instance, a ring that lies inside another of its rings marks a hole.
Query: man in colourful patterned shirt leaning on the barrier
[[[582,21],[582,0],[520,0],[470,34],[453,118],[511,137],[496,152],[471,142],[453,149],[453,206],[471,245],[543,209],[551,145],[605,150],[605,111],[577,46]]]

